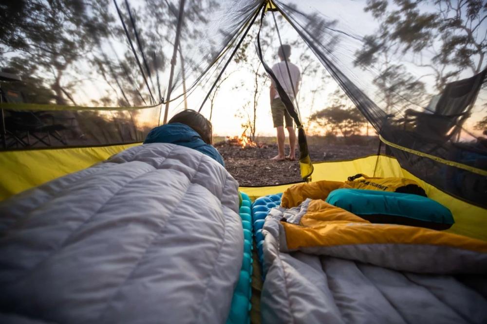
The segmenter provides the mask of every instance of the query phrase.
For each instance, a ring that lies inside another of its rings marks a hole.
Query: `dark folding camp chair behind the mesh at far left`
[[[23,102],[19,91],[7,90],[1,93],[5,102]],[[66,145],[66,140],[59,133],[67,129],[64,125],[55,124],[54,117],[43,111],[6,110],[5,128],[7,135],[6,148],[34,146],[38,143],[52,146],[52,139]],[[33,138],[33,139],[32,139]]]

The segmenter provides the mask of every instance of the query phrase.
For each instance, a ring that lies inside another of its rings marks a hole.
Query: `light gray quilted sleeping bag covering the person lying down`
[[[132,147],[0,203],[0,323],[224,323],[238,183],[174,144]]]

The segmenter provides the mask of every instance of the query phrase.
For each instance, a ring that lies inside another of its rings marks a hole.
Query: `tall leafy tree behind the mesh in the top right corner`
[[[487,3],[481,0],[368,0],[366,12],[379,28],[364,37],[356,64],[379,63],[384,53],[429,69],[435,88],[443,90],[460,72],[480,72],[487,51]],[[428,10],[424,10],[424,7]],[[432,51],[431,61],[423,53]]]

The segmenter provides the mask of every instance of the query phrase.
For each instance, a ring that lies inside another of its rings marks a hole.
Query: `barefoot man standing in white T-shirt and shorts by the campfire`
[[[272,67],[272,72],[276,75],[276,78],[279,84],[282,86],[284,91],[286,91],[287,95],[293,101],[294,99],[294,92],[298,94],[299,85],[301,81],[301,72],[300,69],[294,65],[293,63],[289,62],[289,57],[291,56],[291,46],[289,45],[282,45],[279,48],[278,56],[281,59],[281,62],[274,64]],[[291,72],[291,79],[289,79],[289,73],[286,67],[289,67],[289,72]],[[293,86],[294,90],[293,91]],[[270,88],[270,100],[271,100],[271,112],[272,112],[272,121],[274,123],[274,127],[277,130],[277,145],[278,145],[278,155],[273,157],[271,160],[276,161],[283,161],[284,159],[288,159],[291,161],[295,160],[295,152],[296,152],[296,133],[293,128],[293,119],[291,115],[286,110],[286,107],[281,101],[279,97],[279,93],[276,90],[276,85],[274,80],[271,78],[271,88]],[[289,133],[289,146],[290,152],[288,156],[284,155],[284,123],[283,119],[286,122],[287,132]]]

